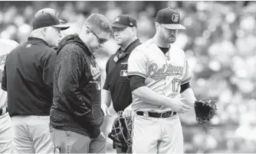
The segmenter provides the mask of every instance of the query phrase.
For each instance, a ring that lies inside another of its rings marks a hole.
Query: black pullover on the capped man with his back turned
[[[56,51],[35,37],[6,57],[2,89],[8,92],[8,112],[15,115],[49,116],[53,98]]]

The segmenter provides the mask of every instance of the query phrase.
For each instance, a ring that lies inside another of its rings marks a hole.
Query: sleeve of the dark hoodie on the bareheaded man
[[[77,50],[82,49],[74,44],[67,44],[62,49],[63,56],[61,62],[57,64],[60,66],[57,67],[59,70],[56,70],[59,71],[56,84],[67,107],[70,107],[75,116],[87,120],[91,116],[91,104],[86,104],[79,88],[79,81],[83,75],[81,70],[85,68],[85,63]]]

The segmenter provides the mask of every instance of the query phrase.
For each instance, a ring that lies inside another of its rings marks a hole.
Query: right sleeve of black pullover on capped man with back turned
[[[43,81],[45,85],[48,85],[49,90],[53,89],[54,81],[54,68],[56,63],[57,55],[54,51],[45,56],[43,61]]]

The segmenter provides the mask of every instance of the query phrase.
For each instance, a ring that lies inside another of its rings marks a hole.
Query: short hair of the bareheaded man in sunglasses
[[[97,34],[102,31],[105,33],[111,33],[110,21],[103,14],[90,14],[87,20],[84,22],[84,28],[90,27]]]

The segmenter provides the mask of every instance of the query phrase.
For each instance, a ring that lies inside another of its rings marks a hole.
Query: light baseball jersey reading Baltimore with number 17
[[[159,95],[180,97],[180,85],[192,79],[183,50],[169,47],[164,54],[152,39],[136,47],[128,59],[128,75],[145,78],[145,85]],[[149,104],[133,95],[133,111],[172,111],[166,106]]]

